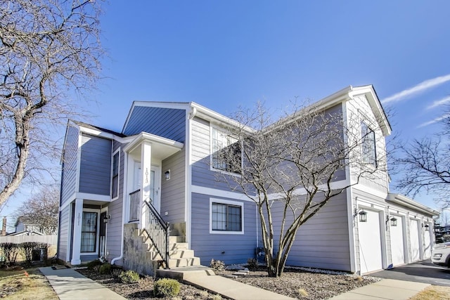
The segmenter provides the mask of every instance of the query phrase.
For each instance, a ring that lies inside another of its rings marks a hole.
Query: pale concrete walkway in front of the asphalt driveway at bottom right
[[[383,279],[371,285],[365,285],[350,292],[334,296],[330,300],[406,300],[429,286],[428,283]]]

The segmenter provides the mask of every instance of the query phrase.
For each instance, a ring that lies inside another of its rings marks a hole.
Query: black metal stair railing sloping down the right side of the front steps
[[[165,268],[169,268],[169,223],[164,221],[158,211],[150,202],[145,201],[146,205],[146,230],[148,237],[155,246],[156,251],[165,261]]]

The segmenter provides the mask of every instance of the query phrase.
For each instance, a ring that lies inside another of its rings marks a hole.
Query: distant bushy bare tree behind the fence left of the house
[[[15,216],[45,235],[56,235],[58,233],[58,211],[58,187],[47,185],[25,201],[22,207],[15,211]]]

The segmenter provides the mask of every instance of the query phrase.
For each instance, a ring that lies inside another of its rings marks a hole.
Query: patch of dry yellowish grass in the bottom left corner
[[[0,270],[0,298],[57,300],[49,282],[38,268]]]

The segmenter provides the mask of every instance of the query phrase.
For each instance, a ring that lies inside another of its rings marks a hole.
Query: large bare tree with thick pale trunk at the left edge
[[[58,157],[54,126],[80,111],[69,95],[95,87],[99,12],[89,0],[0,2],[0,205]]]

